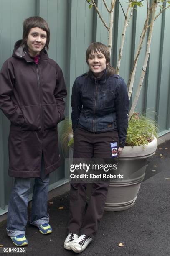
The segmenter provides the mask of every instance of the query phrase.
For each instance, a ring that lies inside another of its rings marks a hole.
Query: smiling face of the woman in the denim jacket
[[[101,51],[98,51],[97,53],[92,51],[92,53],[89,55],[88,63],[89,68],[95,77],[100,77],[104,69],[106,69],[106,66],[109,64],[106,63],[106,58]]]

